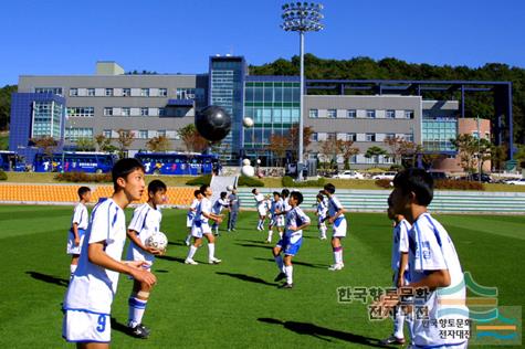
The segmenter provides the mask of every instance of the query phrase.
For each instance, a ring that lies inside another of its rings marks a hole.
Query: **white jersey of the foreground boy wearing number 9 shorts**
[[[113,199],[107,199],[93,209],[85,239],[78,267],[65,294],[64,309],[111,314],[118,273],[91,263],[87,247],[90,244],[104,242],[104,252],[115,261],[120,261],[126,242],[126,215]]]

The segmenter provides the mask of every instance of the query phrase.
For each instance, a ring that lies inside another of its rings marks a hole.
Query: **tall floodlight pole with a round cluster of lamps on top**
[[[300,56],[301,56],[301,93],[300,93],[300,115],[298,115],[298,154],[297,154],[297,179],[303,179],[303,95],[304,95],[304,33],[318,32],[324,28],[321,24],[323,4],[313,2],[290,2],[282,7],[283,24],[285,31],[298,32],[300,34]]]

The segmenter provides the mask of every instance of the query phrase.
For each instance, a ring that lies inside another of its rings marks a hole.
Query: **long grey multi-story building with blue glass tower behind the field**
[[[388,151],[385,139],[400,137],[441,154],[443,159],[435,167],[455,169],[450,139],[468,123],[462,119],[464,93],[489,91],[479,87],[486,85],[497,92],[498,126],[493,128],[501,142],[502,120],[506,117],[512,125],[511,83],[306,81],[302,114],[304,125],[314,131],[305,149],[307,159],[323,157],[322,141],[344,139],[359,149],[350,159],[351,167],[386,167],[392,163],[391,156],[365,154],[372,146]],[[428,101],[423,98],[427,89],[461,89],[461,101]],[[31,162],[36,151],[29,141],[32,138],[52,136],[60,140],[59,148],[74,147],[80,138],[102,134],[114,139],[124,129],[135,135],[132,154],[146,149],[147,140],[155,136],[166,136],[172,150],[183,151],[178,130],[193,123],[196,110],[219,105],[232,117],[231,133],[221,144],[227,150],[224,160],[238,163],[250,157],[272,165],[276,157],[267,148],[270,137],[286,137],[298,123],[300,93],[298,76],[250,75],[245,60],[230,55],[210,57],[207,74],[125,74],[114,62],[98,62],[95,75],[22,75],[12,99],[10,149]],[[252,128],[242,126],[244,117],[253,118]],[[491,125],[485,124],[482,136],[491,137]],[[511,126],[506,138],[513,149]],[[340,157],[338,162],[343,162]]]

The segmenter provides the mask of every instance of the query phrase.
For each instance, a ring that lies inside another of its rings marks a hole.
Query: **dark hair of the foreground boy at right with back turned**
[[[427,207],[432,202],[434,180],[423,169],[410,168],[398,172],[393,178],[393,187],[399,188],[403,194],[413,192],[420,205]]]

